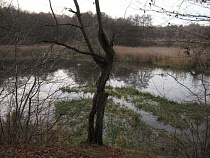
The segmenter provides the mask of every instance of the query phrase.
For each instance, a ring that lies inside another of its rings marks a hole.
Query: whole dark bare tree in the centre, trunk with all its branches
[[[44,42],[50,42],[57,45],[65,46],[66,48],[73,50],[79,54],[84,54],[91,56],[92,59],[96,62],[96,64],[100,67],[100,75],[98,77],[98,80],[96,82],[96,92],[93,97],[92,101],[92,109],[89,114],[89,126],[88,126],[88,138],[87,142],[89,143],[95,143],[95,144],[103,144],[102,139],[102,133],[103,133],[103,117],[104,117],[104,110],[106,105],[106,100],[108,98],[108,93],[105,92],[105,85],[107,80],[109,79],[110,71],[112,69],[112,64],[114,61],[114,49],[113,49],[113,40],[108,40],[105,31],[103,29],[103,23],[102,23],[102,17],[101,17],[101,11],[100,11],[100,5],[99,0],[95,0],[95,7],[97,12],[97,21],[98,21],[98,41],[100,43],[101,48],[104,51],[104,54],[100,54],[100,52],[96,52],[93,48],[93,44],[90,41],[90,38],[88,37],[88,33],[86,30],[86,26],[83,23],[82,19],[82,13],[80,12],[80,7],[77,2],[77,0],[74,0],[74,4],[76,7],[76,11],[69,9],[70,12],[74,13],[78,20],[78,25],[69,24],[70,26],[74,26],[80,29],[85,44],[88,48],[88,51],[82,51],[81,49],[78,49],[72,45],[69,45],[67,43],[61,42],[58,38],[58,31],[59,31],[59,23],[57,21],[56,15],[54,14],[51,1],[49,0],[50,8],[52,10],[52,14],[55,19],[55,26],[57,28],[57,37],[54,41],[44,41]],[[95,119],[96,118],[96,119]]]

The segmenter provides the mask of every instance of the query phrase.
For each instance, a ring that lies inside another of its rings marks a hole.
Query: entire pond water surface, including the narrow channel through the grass
[[[92,94],[83,93],[63,93],[59,89],[62,87],[78,87],[80,85],[94,84],[99,75],[98,66],[90,61],[59,61],[53,69],[46,68],[45,71],[36,73],[39,76],[39,83],[36,84],[39,94],[39,104],[44,100],[44,104],[52,105],[53,102],[63,99],[74,99]],[[18,98],[24,99],[23,93],[30,91],[34,83],[35,74],[29,75],[28,71],[21,72],[18,77],[20,87]],[[31,71],[30,71],[31,72]],[[202,78],[203,77],[203,78]],[[203,82],[202,82],[203,79]],[[139,63],[114,63],[110,80],[107,85],[113,87],[135,87],[142,92],[150,92],[154,95],[166,97],[169,100],[177,102],[204,102],[205,94],[207,103],[210,103],[210,76],[202,76],[193,71],[180,69],[157,68],[152,65],[141,65]],[[1,79],[1,115],[8,111],[8,102],[11,102],[11,95],[15,90],[11,88],[15,85],[15,76],[5,75]],[[204,87],[205,85],[205,87]],[[23,88],[25,87],[25,88]],[[28,87],[28,88],[27,88]],[[6,89],[6,90],[5,90]],[[205,92],[206,90],[206,92]],[[37,93],[35,93],[37,95]],[[19,99],[19,101],[21,100]],[[10,101],[9,101],[10,100]],[[14,102],[15,98],[13,97]],[[35,101],[34,101],[35,102]],[[38,102],[38,101],[36,101]],[[115,102],[124,104],[130,109],[135,107],[126,102],[115,98]],[[20,104],[21,105],[21,104]],[[49,106],[48,106],[49,107]],[[11,108],[11,107],[10,107]],[[51,107],[53,109],[53,106]],[[156,120],[156,117],[150,112],[144,110],[138,111],[142,115],[142,120],[156,129],[164,129],[168,132],[174,132],[176,129],[170,125],[164,125]]]

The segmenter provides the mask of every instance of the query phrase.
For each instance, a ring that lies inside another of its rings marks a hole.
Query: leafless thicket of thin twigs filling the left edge
[[[54,119],[46,113],[50,111],[49,100],[54,93],[40,93],[42,77],[47,75],[46,69],[53,67],[56,58],[30,55],[29,50],[39,52],[39,46],[27,47],[25,44],[34,43],[34,39],[28,38],[32,29],[40,25],[32,15],[25,15],[20,8],[13,7],[12,2],[0,6],[0,144],[39,142],[39,135],[44,133],[40,129],[51,125],[49,122]],[[23,55],[24,49],[29,55]],[[44,51],[50,54],[46,49]],[[51,120],[46,121],[47,117]]]

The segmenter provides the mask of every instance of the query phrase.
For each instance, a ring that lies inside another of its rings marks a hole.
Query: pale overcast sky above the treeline
[[[1,1],[1,0],[0,0]],[[4,0],[14,5],[19,3],[19,7],[23,10],[31,12],[50,12],[49,0]],[[51,0],[54,11],[57,14],[69,14],[65,8],[74,8],[73,0]],[[94,0],[78,0],[81,12],[95,12]],[[209,4],[195,3],[194,0],[100,0],[101,11],[105,12],[113,18],[129,17],[130,15],[150,14],[152,16],[153,25],[167,24],[190,24],[192,21],[179,20],[175,15],[166,15],[165,13],[157,13],[149,10],[162,11],[162,8],[172,12],[182,14],[206,15],[210,16]],[[160,7],[160,8],[158,8]],[[200,22],[201,25],[209,25],[210,22]]]

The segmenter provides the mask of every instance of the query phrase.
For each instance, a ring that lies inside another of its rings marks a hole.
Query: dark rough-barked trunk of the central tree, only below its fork
[[[103,117],[108,93],[105,93],[105,84],[109,79],[112,62],[100,66],[100,76],[96,82],[96,92],[93,97],[92,109],[89,115],[88,142],[103,145]],[[95,120],[96,116],[96,120]]]

